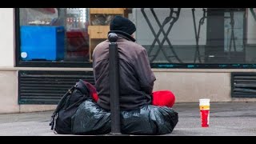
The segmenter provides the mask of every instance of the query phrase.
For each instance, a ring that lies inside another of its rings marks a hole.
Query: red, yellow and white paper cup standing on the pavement
[[[199,99],[199,108],[200,108],[202,127],[209,127],[210,99],[209,98]]]

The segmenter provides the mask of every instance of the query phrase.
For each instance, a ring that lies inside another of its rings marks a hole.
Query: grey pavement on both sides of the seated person
[[[198,103],[176,103],[178,124],[162,136],[256,136],[256,102],[211,102],[210,127],[202,128]],[[53,111],[0,114],[0,136],[72,136],[54,134]]]

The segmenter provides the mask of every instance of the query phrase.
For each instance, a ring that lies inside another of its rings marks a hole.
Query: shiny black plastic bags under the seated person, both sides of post
[[[142,106],[138,110],[121,112],[122,134],[170,134],[178,123],[178,113],[166,106]],[[73,134],[109,134],[110,111],[88,99],[72,117]]]

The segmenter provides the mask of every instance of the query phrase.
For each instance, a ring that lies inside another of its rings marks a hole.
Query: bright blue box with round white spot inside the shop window
[[[21,26],[21,58],[63,60],[64,38],[64,26]]]

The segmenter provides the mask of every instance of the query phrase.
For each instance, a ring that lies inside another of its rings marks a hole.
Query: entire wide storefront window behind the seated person
[[[254,8],[20,8],[17,61],[43,63],[38,66],[91,64],[94,47],[106,40],[111,19],[122,15],[137,26],[135,38],[146,48],[152,66],[254,66],[255,12]]]

